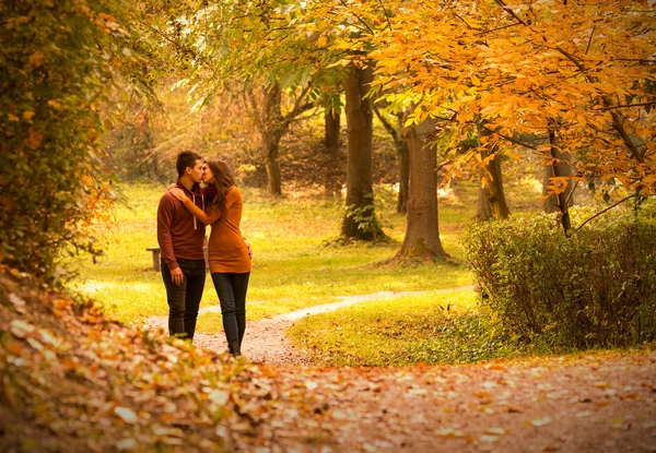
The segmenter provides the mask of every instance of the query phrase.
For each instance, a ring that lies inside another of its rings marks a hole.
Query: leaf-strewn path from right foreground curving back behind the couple
[[[317,368],[307,366],[284,333],[303,317],[414,293],[344,296],[248,323],[246,360],[261,363],[290,394],[302,393],[305,409],[314,413],[291,431],[269,427],[273,438],[262,442],[262,452],[656,451],[655,353],[458,367]],[[220,307],[202,312],[211,311]],[[147,325],[165,329],[166,318],[150,318]],[[195,344],[218,353],[226,347],[222,333],[199,333]]]

